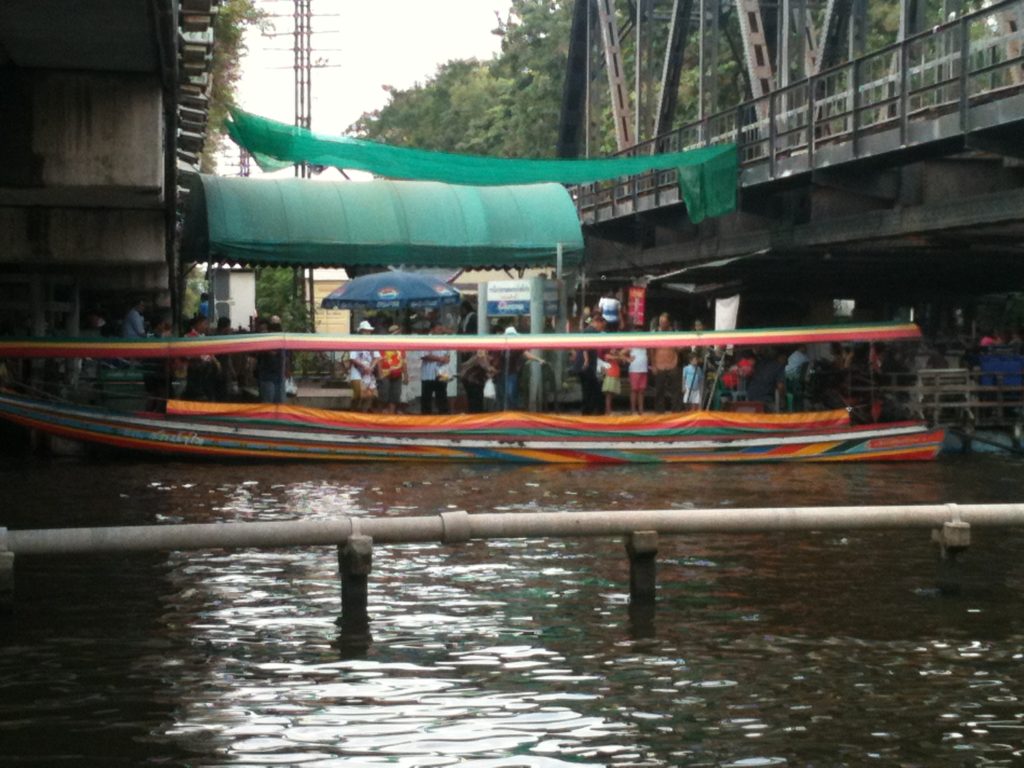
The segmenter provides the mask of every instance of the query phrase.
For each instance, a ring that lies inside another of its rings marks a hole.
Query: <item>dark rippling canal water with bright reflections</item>
[[[1021,502],[1024,463],[517,468],[3,460],[0,524],[160,524],[804,504]],[[1024,531],[375,550],[370,638],[336,551],[22,557],[0,617],[4,765],[1024,764]]]

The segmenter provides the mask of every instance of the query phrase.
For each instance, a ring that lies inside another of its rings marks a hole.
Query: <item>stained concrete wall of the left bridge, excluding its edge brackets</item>
[[[171,8],[0,5],[0,284],[8,306],[28,298],[18,287],[33,281],[52,290],[49,275],[84,290],[166,293]]]

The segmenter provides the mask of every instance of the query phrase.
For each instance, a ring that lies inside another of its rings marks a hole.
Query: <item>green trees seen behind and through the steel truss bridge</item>
[[[980,0],[979,0],[980,1]],[[391,89],[389,102],[365,114],[349,131],[357,136],[393,145],[438,152],[471,153],[495,157],[553,157],[561,111],[565,62],[574,0],[512,0],[495,34],[502,38],[501,52],[490,61],[452,60],[425,83],[407,90]],[[627,81],[634,88],[636,71],[635,17],[638,4],[617,0],[614,11],[622,33]],[[655,6],[664,11],[665,4]],[[899,3],[870,4],[867,48],[876,50],[896,41]],[[768,12],[766,10],[766,12]],[[823,8],[812,7],[812,24],[820,26]],[[926,0],[926,25],[941,23],[941,0]],[[653,131],[657,87],[665,57],[668,26],[664,12],[658,23],[644,27],[643,95],[640,102],[641,139]],[[715,88],[705,92],[705,114],[731,110],[751,97],[742,40],[735,5],[723,3],[715,71],[706,73]],[[803,35],[798,30],[794,35]],[[699,110],[700,31],[691,26],[684,49],[674,125],[695,121]],[[840,57],[845,60],[846,56]],[[592,54],[590,154],[616,151],[611,103],[603,57]],[[791,77],[803,77],[802,62],[794,63]],[[715,96],[714,101],[712,96]],[[635,102],[631,109],[636,109]]]

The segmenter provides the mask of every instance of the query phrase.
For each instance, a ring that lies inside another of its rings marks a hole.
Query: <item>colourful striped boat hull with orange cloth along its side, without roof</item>
[[[409,417],[291,406],[172,401],[169,415],[119,414],[0,395],[0,417],[134,453],[197,459],[542,464],[926,461],[943,431],[852,427],[845,412],[695,412],[655,417],[523,413]]]

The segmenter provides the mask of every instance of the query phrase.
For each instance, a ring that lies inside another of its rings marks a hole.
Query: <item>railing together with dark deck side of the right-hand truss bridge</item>
[[[740,164],[728,216],[690,223],[673,170],[573,190],[590,279],[908,301],[1024,286],[1024,0],[626,153],[722,142]]]

